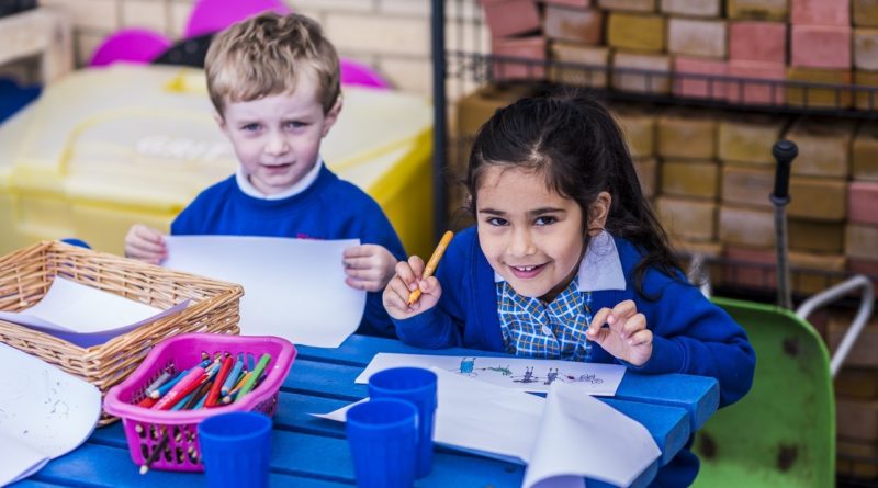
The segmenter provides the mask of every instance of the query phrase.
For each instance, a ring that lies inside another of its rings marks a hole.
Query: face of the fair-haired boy
[[[304,75],[304,73],[303,73]],[[227,101],[217,117],[250,183],[273,195],[297,183],[317,162],[320,139],[335,124],[341,102],[324,113],[317,83],[302,76],[292,93]]]

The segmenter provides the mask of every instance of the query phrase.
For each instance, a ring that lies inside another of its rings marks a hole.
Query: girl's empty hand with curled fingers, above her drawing
[[[605,324],[609,327],[605,328]],[[652,356],[652,331],[646,328],[646,317],[638,314],[638,306],[630,299],[612,309],[598,310],[585,336],[635,366],[642,366]]]

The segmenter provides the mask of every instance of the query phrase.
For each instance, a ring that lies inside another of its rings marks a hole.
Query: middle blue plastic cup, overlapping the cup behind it
[[[347,412],[348,445],[359,488],[412,488],[418,410],[393,398],[354,405]]]

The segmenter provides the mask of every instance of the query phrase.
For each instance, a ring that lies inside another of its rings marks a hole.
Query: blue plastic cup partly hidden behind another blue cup
[[[415,476],[423,478],[432,468],[432,431],[436,419],[436,373],[421,367],[392,367],[369,378],[369,397],[398,398],[418,409],[418,446]]]

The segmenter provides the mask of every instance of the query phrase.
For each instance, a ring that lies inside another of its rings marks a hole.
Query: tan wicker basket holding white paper
[[[101,394],[127,377],[153,345],[165,338],[185,332],[240,332],[240,285],[56,241],[40,242],[0,258],[0,310],[21,311],[33,306],[56,275],[162,309],[187,298],[192,300],[177,314],[89,348],[0,320],[0,341],[86,379]],[[114,420],[104,413],[100,423]]]

